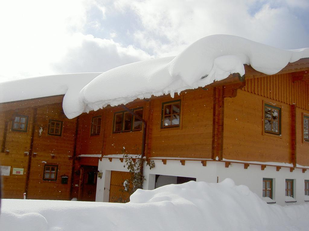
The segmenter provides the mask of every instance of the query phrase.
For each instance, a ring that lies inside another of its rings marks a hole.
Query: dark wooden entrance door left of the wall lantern
[[[79,201],[95,201],[98,166],[81,167]]]

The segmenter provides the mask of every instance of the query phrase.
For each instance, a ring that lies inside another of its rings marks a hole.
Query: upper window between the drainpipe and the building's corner
[[[179,127],[180,124],[180,100],[162,104],[161,128]]]

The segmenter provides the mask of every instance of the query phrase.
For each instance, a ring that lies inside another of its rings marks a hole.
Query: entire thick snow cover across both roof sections
[[[9,102],[66,94],[63,110],[68,118],[74,118],[83,112],[151,95],[173,97],[175,92],[204,87],[232,73],[244,75],[244,64],[273,75],[302,58],[309,58],[309,48],[283,50],[233,35],[210,35],[175,57],[130,63],[102,74],[45,76],[2,83],[0,99]]]

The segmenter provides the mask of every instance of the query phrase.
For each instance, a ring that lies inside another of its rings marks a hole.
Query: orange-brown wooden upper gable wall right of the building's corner
[[[308,95],[308,84],[293,82],[290,73],[246,80],[236,98],[225,99],[223,157],[308,166],[308,144],[301,138]],[[263,133],[264,102],[281,108],[281,136]]]

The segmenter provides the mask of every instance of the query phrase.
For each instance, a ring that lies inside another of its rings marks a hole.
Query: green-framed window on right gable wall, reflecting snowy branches
[[[281,135],[281,108],[265,104],[264,131],[266,133]]]

